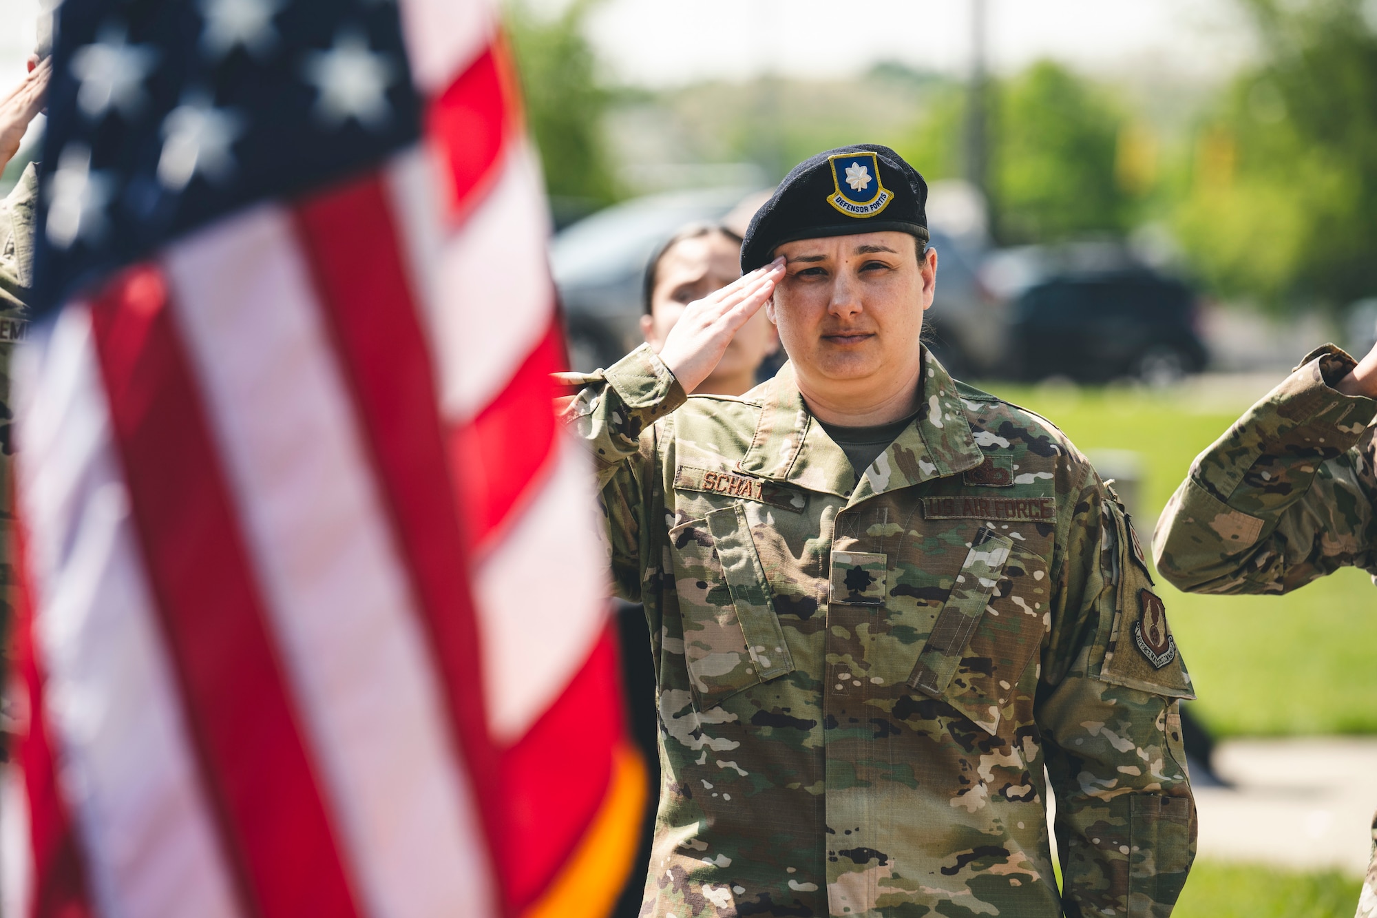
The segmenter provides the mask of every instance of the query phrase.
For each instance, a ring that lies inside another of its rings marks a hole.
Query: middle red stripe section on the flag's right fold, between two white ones
[[[551,405],[559,390],[551,374],[565,368],[559,316],[526,356],[507,387],[470,423],[450,433],[465,529],[485,542],[511,516],[522,495],[534,493],[549,463],[556,420]]]

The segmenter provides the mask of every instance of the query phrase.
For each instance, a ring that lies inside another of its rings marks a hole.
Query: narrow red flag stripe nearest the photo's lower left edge
[[[14,527],[15,568],[15,670],[29,695],[28,731],[19,740],[19,766],[29,798],[29,841],[33,852],[32,918],[88,918],[85,866],[72,815],[58,786],[52,736],[43,704],[44,677],[33,640],[33,606],[25,564],[23,527]]]

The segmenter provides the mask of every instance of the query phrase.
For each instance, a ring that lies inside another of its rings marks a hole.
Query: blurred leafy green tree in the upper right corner
[[[1377,292],[1377,36],[1362,0],[1242,0],[1264,62],[1201,124],[1173,212],[1219,292],[1281,309]]]

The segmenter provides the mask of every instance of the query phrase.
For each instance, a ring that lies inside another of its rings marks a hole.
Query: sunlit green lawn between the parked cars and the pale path
[[[1082,451],[1140,453],[1148,518],[1261,394],[982,387],[1049,418]],[[1217,736],[1377,733],[1377,587],[1365,573],[1341,571],[1285,597],[1188,595],[1157,582],[1199,693],[1194,713]]]

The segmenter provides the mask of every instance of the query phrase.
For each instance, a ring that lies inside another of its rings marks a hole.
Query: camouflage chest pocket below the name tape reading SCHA
[[[669,531],[688,682],[700,711],[792,671],[746,514],[713,510]]]

